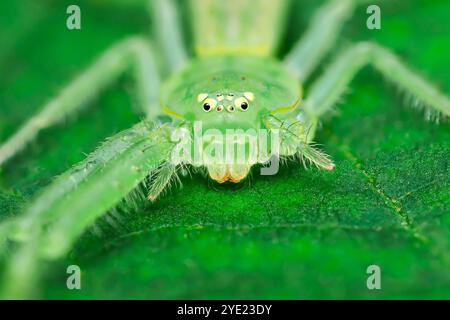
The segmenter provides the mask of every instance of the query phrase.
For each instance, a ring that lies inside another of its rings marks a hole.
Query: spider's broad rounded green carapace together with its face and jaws
[[[193,61],[166,83],[162,107],[192,128],[193,140],[201,136],[196,148],[202,148],[200,165],[209,176],[219,183],[237,183],[254,164],[264,162],[259,157],[260,133],[271,129],[265,121],[268,115],[292,111],[300,97],[297,79],[272,59],[208,57]],[[243,158],[227,157],[230,146],[238,155],[243,150]],[[211,153],[222,153],[222,159],[211,159]]]

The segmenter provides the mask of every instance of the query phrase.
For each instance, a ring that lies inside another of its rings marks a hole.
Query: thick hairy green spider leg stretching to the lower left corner
[[[12,240],[14,248],[0,282],[3,295],[28,296],[35,281],[30,272],[38,270],[40,261],[65,255],[87,227],[122,199],[128,206],[136,196],[145,199],[147,194],[136,194],[138,185],[170,161],[172,148],[169,126],[144,121],[107,140],[44,188],[22,215],[2,222],[0,238]]]

